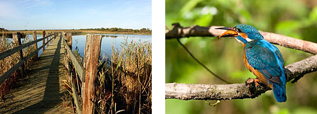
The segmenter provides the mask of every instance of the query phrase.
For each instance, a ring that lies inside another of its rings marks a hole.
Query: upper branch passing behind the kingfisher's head
[[[202,27],[199,25],[194,25],[191,27],[182,27],[179,23],[173,23],[172,25],[173,29],[167,30],[165,32],[165,39],[188,38],[194,36],[216,37],[218,35],[221,35],[221,33],[225,32],[225,30],[215,29],[223,26]],[[296,38],[278,35],[275,33],[267,33],[262,31],[260,31],[260,33],[264,36],[265,40],[272,42],[274,44],[289,47],[296,50],[301,50],[304,52],[309,52],[314,55],[317,54],[317,44],[314,42],[299,40]]]

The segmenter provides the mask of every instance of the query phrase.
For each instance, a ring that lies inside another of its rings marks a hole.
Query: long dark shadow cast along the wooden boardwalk
[[[16,113],[45,113],[62,102],[62,100],[60,99],[60,97],[62,96],[62,94],[60,93],[60,72],[58,71],[60,65],[60,57],[62,56],[60,55],[60,50],[61,40],[58,40],[57,48],[54,55],[50,55],[52,56],[52,62],[50,63],[50,66],[41,68],[48,68],[48,76],[45,77],[46,84],[43,100],[33,104],[32,106],[28,106],[22,110],[18,110],[18,112]],[[37,71],[39,72],[40,70]]]

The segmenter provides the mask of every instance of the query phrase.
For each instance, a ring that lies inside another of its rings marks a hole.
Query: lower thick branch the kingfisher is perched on
[[[296,82],[304,74],[317,71],[317,55],[294,62],[285,67],[287,81]],[[255,98],[269,91],[266,86],[256,85],[254,79],[248,79],[245,84],[165,84],[165,98],[182,100],[230,100]]]

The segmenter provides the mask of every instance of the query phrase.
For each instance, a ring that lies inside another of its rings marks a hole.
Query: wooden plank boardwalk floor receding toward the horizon
[[[67,92],[62,80],[68,78],[63,45],[60,35],[52,40],[27,78],[6,95],[5,102],[0,102],[0,113],[72,113],[72,108],[62,104],[62,96]]]

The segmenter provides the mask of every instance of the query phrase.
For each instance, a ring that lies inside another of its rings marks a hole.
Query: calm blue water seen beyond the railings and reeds
[[[152,35],[117,35],[117,34],[100,34],[104,35],[104,38],[101,40],[101,55],[106,55],[106,57],[110,57],[112,47],[116,50],[122,50],[122,43],[131,41],[133,42],[152,42]],[[36,35],[38,39],[43,38],[42,35]],[[33,40],[33,35],[29,34],[28,38]],[[9,42],[12,41],[11,38],[8,38]],[[24,40],[24,39],[22,39]],[[43,41],[38,42],[38,47],[42,46]],[[86,35],[73,35],[72,36],[72,50],[76,48],[79,51],[79,55],[84,56],[84,47],[86,42]],[[43,52],[43,49],[38,51],[38,56],[40,56]]]

